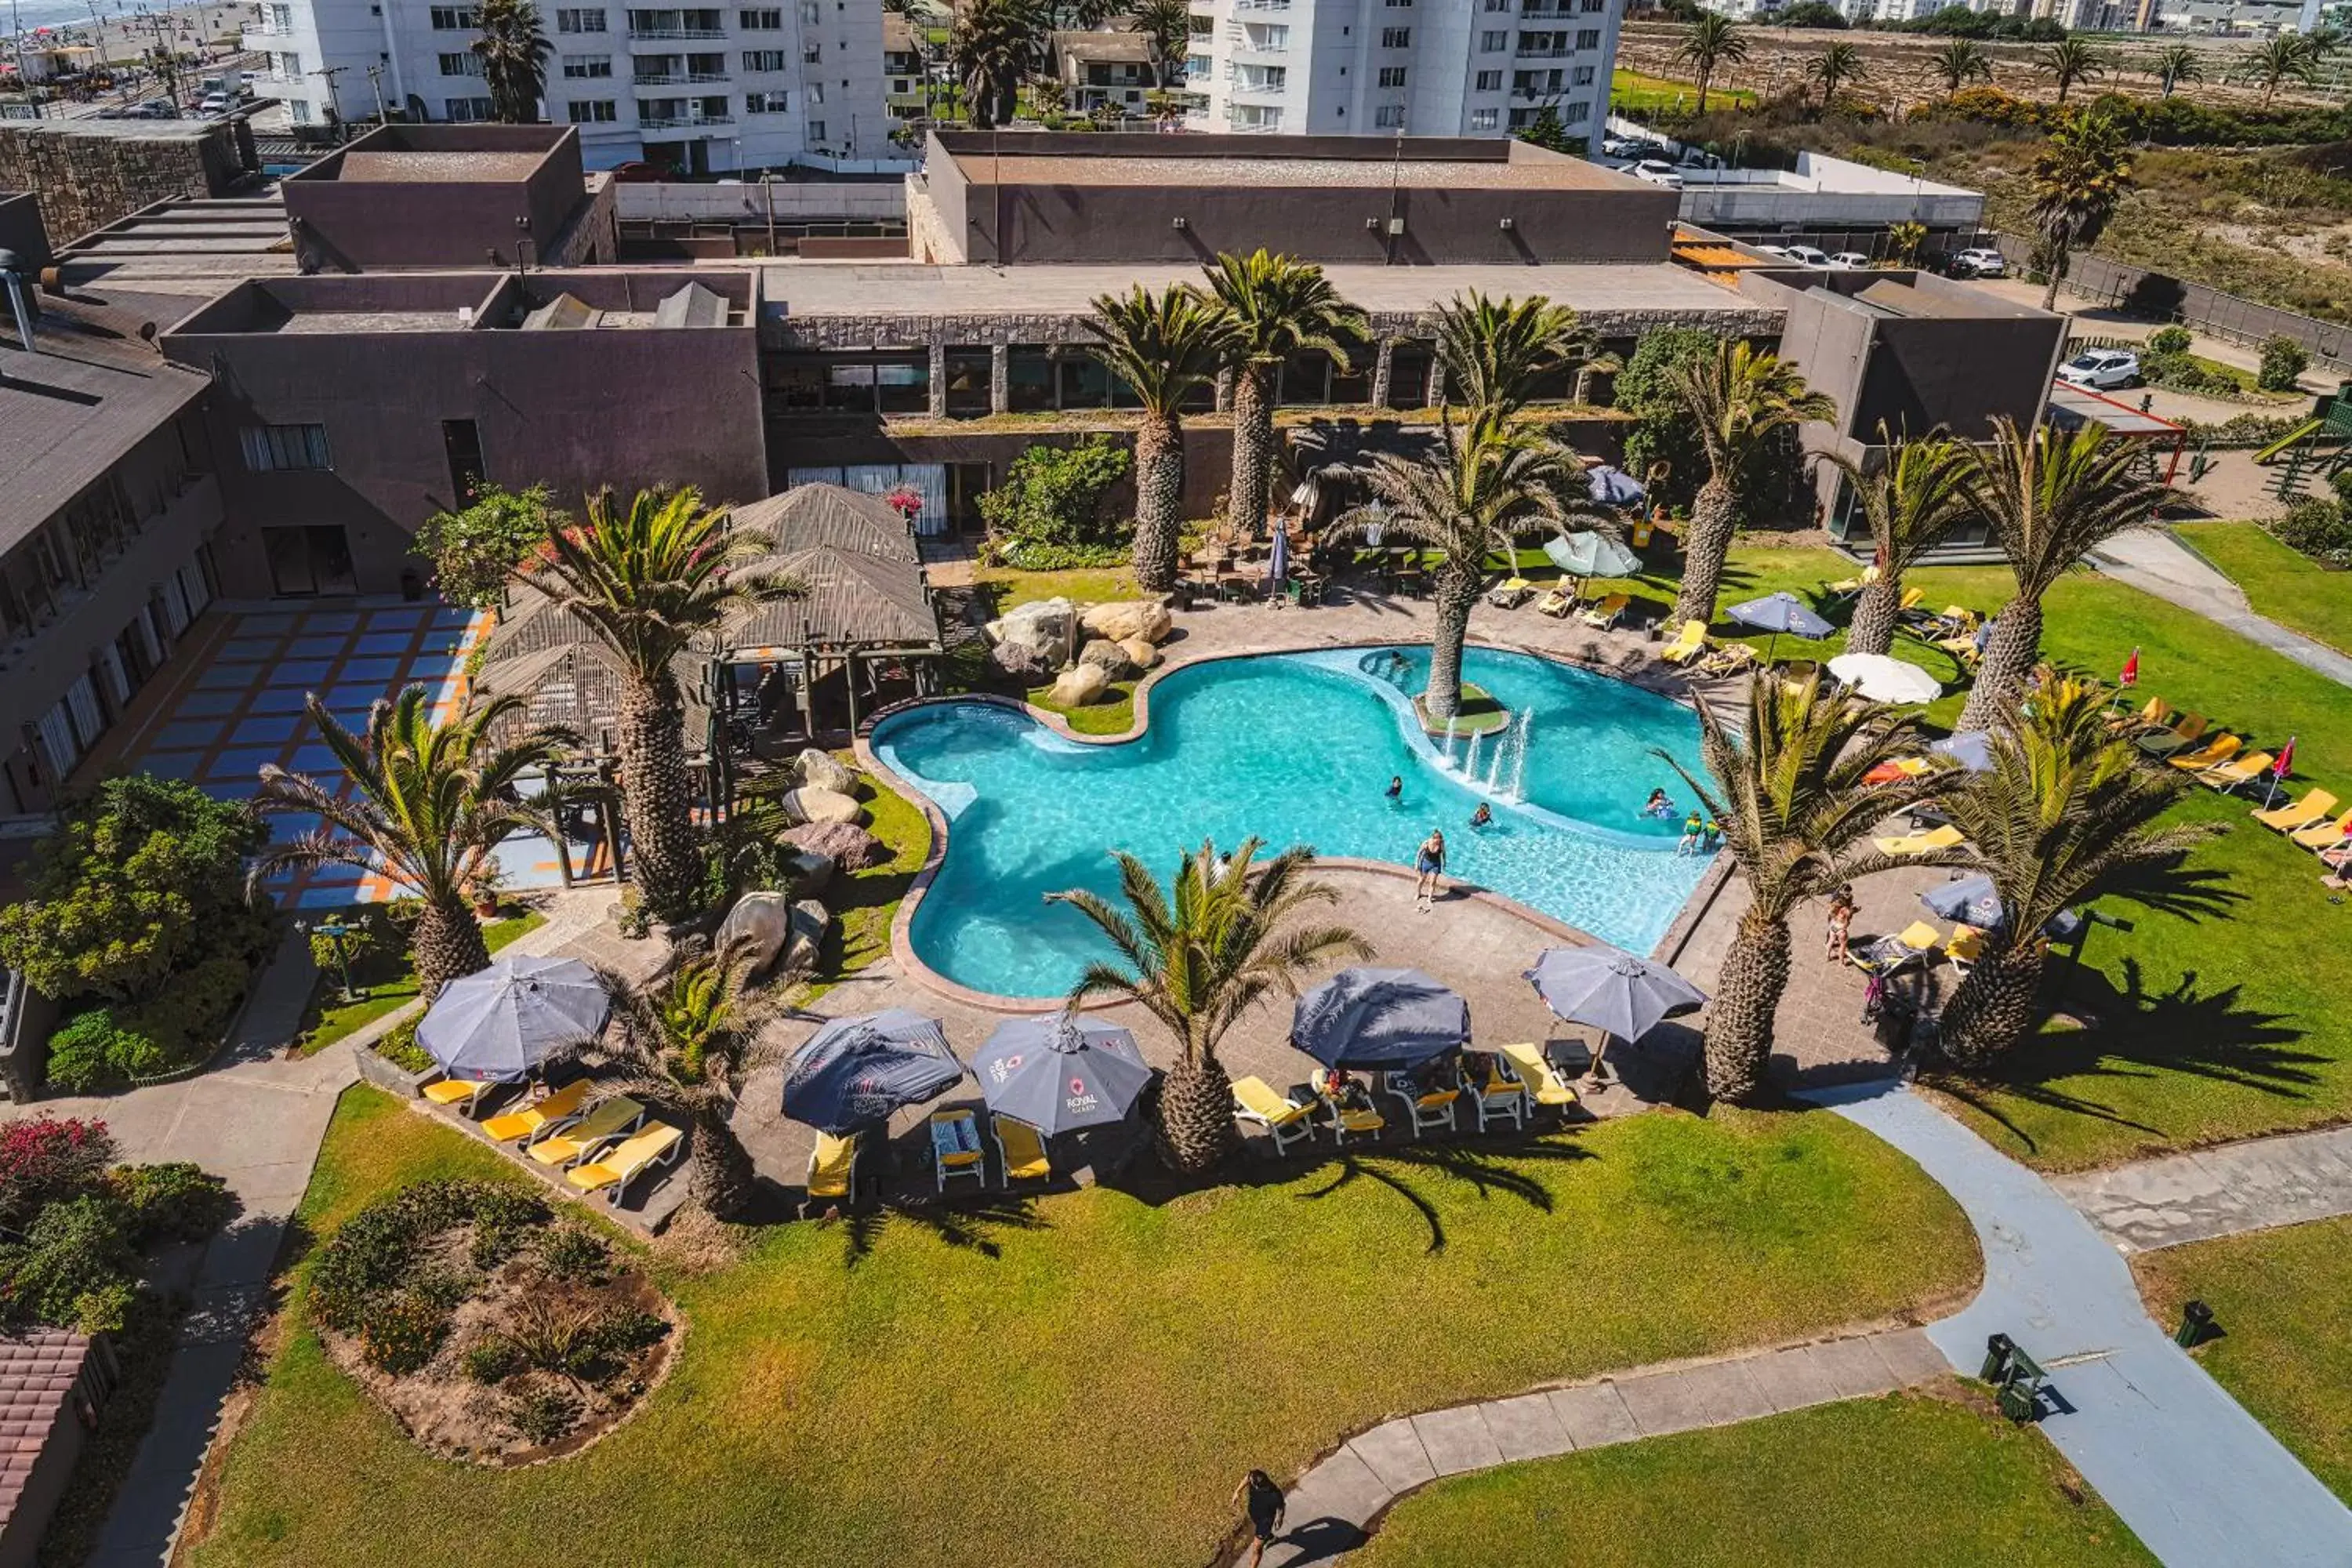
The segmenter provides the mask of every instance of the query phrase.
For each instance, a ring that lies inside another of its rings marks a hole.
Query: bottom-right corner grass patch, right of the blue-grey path
[[[2352,1218],[2190,1241],[2131,1260],[2159,1324],[2213,1307],[2213,1380],[2352,1502]]]

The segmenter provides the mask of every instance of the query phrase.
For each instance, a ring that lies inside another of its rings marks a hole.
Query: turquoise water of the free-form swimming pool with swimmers
[[[995,703],[931,703],[875,726],[875,757],[950,823],[948,858],[915,907],[915,952],[941,976],[1002,997],[1054,997],[1108,947],[1061,889],[1115,896],[1108,851],[1160,877],[1204,837],[1411,865],[1430,827],[1446,872],[1632,952],[1649,952],[1698,886],[1705,860],[1675,853],[1691,790],[1651,755],[1698,769],[1689,710],[1625,682],[1526,654],[1470,649],[1463,679],[1534,712],[1524,804],[1510,750],[1482,743],[1479,783],[1421,738],[1406,693],[1428,649],[1263,654],[1171,670],[1150,729],[1122,745],[1065,741]],[[1496,788],[1484,776],[1496,773]],[[1388,799],[1390,776],[1404,778]],[[1642,816],[1653,788],[1675,820]],[[1494,823],[1472,830],[1486,799]],[[1534,957],[1534,954],[1529,954]]]

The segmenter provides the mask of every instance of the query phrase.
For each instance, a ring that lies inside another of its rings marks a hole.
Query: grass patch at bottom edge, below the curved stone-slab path
[[[1564,1542],[1573,1542],[1566,1547]],[[1439,1481],[1362,1568],[2154,1563],[2058,1450],[1980,1394],[1889,1394]]]

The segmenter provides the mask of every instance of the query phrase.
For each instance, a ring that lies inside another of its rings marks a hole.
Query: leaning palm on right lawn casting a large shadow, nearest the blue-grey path
[[[2025,717],[1997,726],[1990,750],[1990,771],[1940,797],[2002,898],[2002,924],[1983,933],[1940,1020],[1943,1053],[1969,1067],[1994,1063],[2032,1032],[2051,919],[2122,872],[2220,832],[2220,823],[2154,825],[2187,778],[2147,766],[2131,736],[2117,733],[2098,682],[2044,665]]]

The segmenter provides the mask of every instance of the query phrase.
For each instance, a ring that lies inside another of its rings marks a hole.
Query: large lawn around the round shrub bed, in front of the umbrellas
[[[1202,1563],[1244,1469],[1291,1474],[1392,1410],[1903,1312],[1980,1267],[1952,1201],[1825,1112],[1237,1173],[661,1265],[687,1316],[670,1380],[595,1448],[513,1472],[400,1436],[320,1352],[296,1265],[193,1561],[440,1568],[560,1537],[642,1563]],[[299,1225],[430,1175],[522,1180],[353,1088]]]

